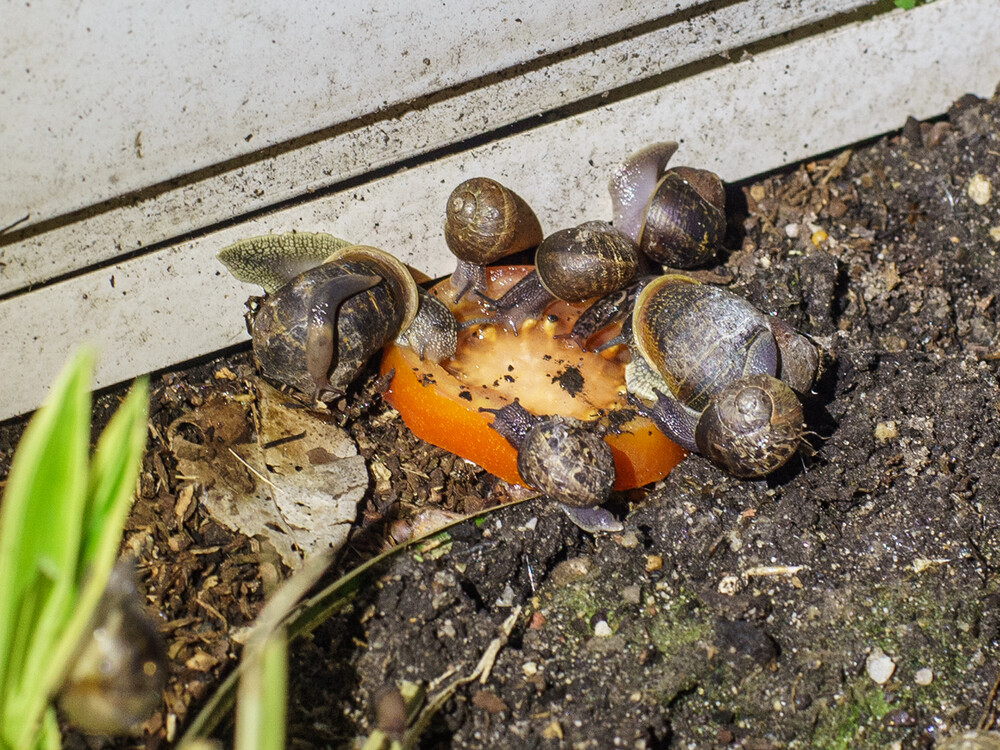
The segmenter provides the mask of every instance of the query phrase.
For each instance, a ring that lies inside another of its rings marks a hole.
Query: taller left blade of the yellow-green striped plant
[[[0,506],[0,731],[14,747],[34,744],[45,708],[43,700],[35,709],[41,667],[72,611],[92,367],[93,352],[82,350],[59,375],[25,429]]]

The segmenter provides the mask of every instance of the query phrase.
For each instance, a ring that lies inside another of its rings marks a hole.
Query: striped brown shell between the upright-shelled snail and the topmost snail
[[[635,278],[636,246],[604,222],[554,232],[535,253],[535,269],[553,297],[583,302],[617,291]]]

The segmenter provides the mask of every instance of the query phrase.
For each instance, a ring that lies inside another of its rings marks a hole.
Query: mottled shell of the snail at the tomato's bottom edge
[[[565,505],[592,508],[608,499],[615,462],[601,435],[569,417],[546,417],[528,430],[517,470],[531,487]]]

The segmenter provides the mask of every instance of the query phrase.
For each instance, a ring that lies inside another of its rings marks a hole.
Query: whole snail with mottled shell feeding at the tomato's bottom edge
[[[517,471],[525,484],[559,503],[586,531],[622,529],[598,507],[615,482],[614,457],[602,426],[572,417],[535,416],[517,401],[492,413],[493,429],[517,448]]]

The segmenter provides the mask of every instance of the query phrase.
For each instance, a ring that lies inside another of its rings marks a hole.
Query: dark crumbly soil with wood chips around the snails
[[[982,205],[976,175],[994,186]],[[996,97],[733,186],[730,251],[710,275],[826,349],[812,455],[762,481],[692,456],[616,499],[620,534],[588,535],[533,500],[396,556],[294,646],[290,746],[349,746],[385,688],[470,674],[517,607],[488,679],[457,689],[422,747],[923,748],[996,728],[997,192]],[[139,745],[178,736],[287,573],[185,492],[165,438],[206,404],[248,410],[237,397],[251,385],[247,352],[154,382],[126,546],[171,679]],[[431,506],[479,512],[504,496],[413,438],[378,386],[368,376],[337,413],[376,467],[339,570]],[[19,430],[3,427],[8,456]],[[881,654],[895,667],[879,684]]]

